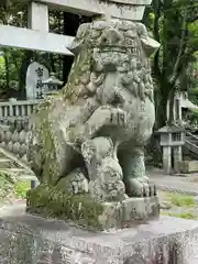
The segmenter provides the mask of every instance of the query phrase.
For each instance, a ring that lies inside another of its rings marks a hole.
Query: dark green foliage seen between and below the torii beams
[[[0,3],[0,23],[20,28],[28,26],[28,6],[11,1],[7,6],[6,1]],[[50,10],[50,29],[53,33],[75,35],[80,23],[88,21],[88,18],[80,15],[57,12]],[[12,96],[12,88],[16,87],[19,98],[25,97],[26,69],[32,61],[45,65],[50,72],[56,73],[57,78],[67,80],[73,57],[56,54],[24,51],[18,48],[0,50],[2,53],[0,61],[0,98]]]

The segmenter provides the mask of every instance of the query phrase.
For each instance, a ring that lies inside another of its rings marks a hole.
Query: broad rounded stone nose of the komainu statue
[[[101,35],[101,44],[116,45],[123,40],[120,32],[116,29],[108,29]]]

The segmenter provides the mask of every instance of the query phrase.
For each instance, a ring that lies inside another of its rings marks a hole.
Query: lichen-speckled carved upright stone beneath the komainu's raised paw
[[[100,136],[86,141],[81,152],[90,179],[90,195],[102,201],[122,201],[125,186],[112,140]]]

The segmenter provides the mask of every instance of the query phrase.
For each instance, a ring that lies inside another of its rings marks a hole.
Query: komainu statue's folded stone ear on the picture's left
[[[77,31],[77,35],[74,38],[72,45],[67,47],[75,56],[77,56],[84,45],[85,35],[88,33],[90,25],[88,23],[81,24]]]

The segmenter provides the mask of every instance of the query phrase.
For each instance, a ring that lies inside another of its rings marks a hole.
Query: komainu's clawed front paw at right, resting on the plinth
[[[131,178],[125,182],[127,194],[130,197],[156,196],[156,186],[148,182],[148,178]]]

